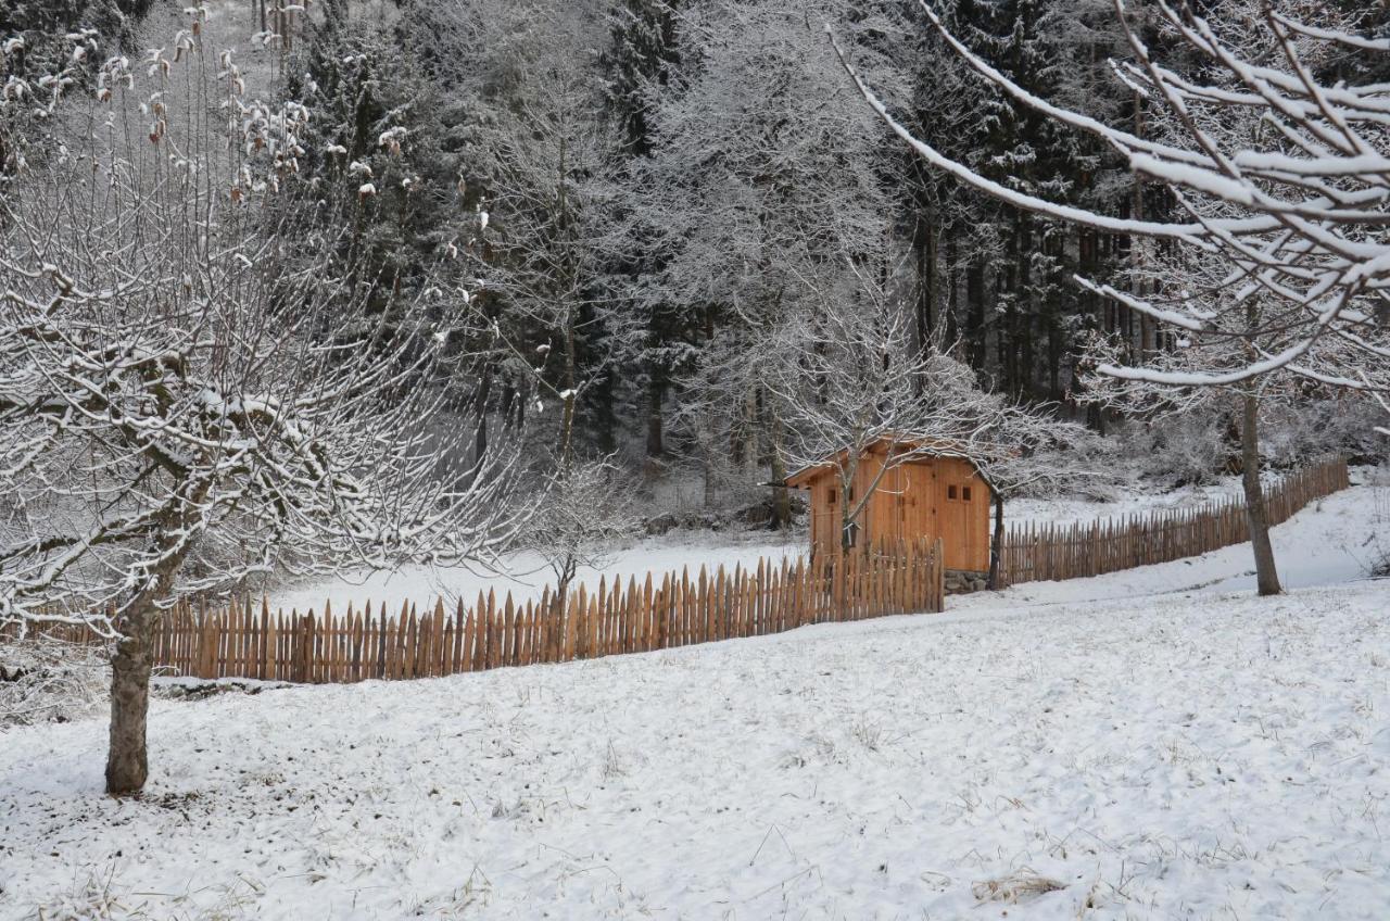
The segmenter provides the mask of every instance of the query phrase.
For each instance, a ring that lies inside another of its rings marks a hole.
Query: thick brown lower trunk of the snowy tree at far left
[[[145,722],[150,708],[154,619],[153,595],[136,600],[121,622],[121,640],[111,657],[111,748],[106,760],[106,792],[139,793],[150,774]]]

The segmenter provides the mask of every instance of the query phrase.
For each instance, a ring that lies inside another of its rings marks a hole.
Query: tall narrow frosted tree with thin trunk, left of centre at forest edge
[[[509,366],[559,405],[553,448],[566,465],[580,405],[610,370],[602,349],[623,338],[598,284],[606,159],[619,146],[599,117],[591,49],[602,26],[582,4],[530,0],[424,4],[410,15],[445,61],[450,90],[470,103],[460,131],[477,221],[459,243],[485,281],[474,306],[495,324]]]

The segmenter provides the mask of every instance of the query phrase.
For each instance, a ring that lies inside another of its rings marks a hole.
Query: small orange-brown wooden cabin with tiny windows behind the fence
[[[940,537],[948,570],[990,570],[994,490],[959,445],[948,441],[878,440],[859,459],[848,497],[841,495],[841,470],[847,467],[847,455],[841,451],[787,477],[788,487],[810,494],[813,554],[840,552],[842,504],[847,498],[856,502],[859,495],[873,488],[867,506],[851,526],[851,545]]]

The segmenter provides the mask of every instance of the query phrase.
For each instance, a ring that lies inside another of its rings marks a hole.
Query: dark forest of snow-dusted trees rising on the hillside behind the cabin
[[[139,53],[152,6],[10,4],[0,35],[32,38],[7,67],[39,72],[88,28],[103,53]],[[1019,86],[1145,132],[1152,103],[1112,67],[1131,54],[1109,0],[934,6]],[[1386,18],[1320,6],[1371,29]],[[977,173],[1094,211],[1175,214],[1162,185],[1137,181],[1099,141],[970,72],[916,0],[322,0],[288,11],[245,0],[217,14],[270,47],[249,79],[309,113],[313,143],[293,178],[311,192],[295,199],[303,220],[325,202],[346,216],[342,264],[381,310],[424,299],[455,321],[448,348],[470,381],[477,451],[527,426],[562,460],[691,465],[708,484],[769,466],[776,476],[791,424],[777,369],[816,348],[805,331],[824,314],[895,313],[915,349],[967,365],[980,388],[1098,430],[1108,416],[1087,402],[1090,346],[1143,362],[1180,345],[1072,281],[1143,295],[1161,284],[1148,271],[1158,245],[956,184],[855,92],[827,26],[915,136]],[[1127,15],[1182,63],[1150,4]],[[1365,81],[1376,64],[1326,65],[1323,79]],[[6,138],[13,166],[22,141]]]

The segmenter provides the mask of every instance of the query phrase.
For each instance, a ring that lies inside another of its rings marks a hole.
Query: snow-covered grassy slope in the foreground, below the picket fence
[[[1275,600],[1230,548],[944,615],[163,700],[139,800],[101,796],[101,721],[0,732],[0,918],[1383,918],[1390,583],[1352,563],[1383,509],[1276,529],[1304,587]]]

